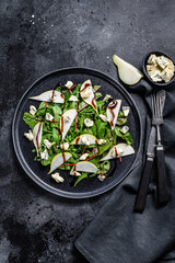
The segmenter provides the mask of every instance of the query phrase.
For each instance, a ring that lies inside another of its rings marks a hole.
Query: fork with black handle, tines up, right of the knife
[[[161,142],[160,126],[163,124],[163,107],[165,102],[165,91],[161,90],[152,94],[152,125],[156,127],[156,165],[158,165],[158,201],[159,204],[168,202],[167,180],[165,170],[164,148]]]

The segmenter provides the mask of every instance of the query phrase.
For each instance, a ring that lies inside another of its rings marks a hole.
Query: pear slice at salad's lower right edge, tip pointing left
[[[101,161],[115,159],[117,157],[126,157],[126,156],[130,156],[133,153],[135,153],[133,147],[131,147],[127,144],[118,144],[118,145],[114,146],[109,150],[109,152],[104,158],[101,159]]]

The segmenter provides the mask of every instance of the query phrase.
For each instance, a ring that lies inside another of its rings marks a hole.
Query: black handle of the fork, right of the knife
[[[162,145],[156,146],[156,165],[158,165],[158,202],[161,205],[166,204],[168,202],[165,157]]]

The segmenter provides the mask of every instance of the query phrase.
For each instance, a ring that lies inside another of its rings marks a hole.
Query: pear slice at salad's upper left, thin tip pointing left
[[[49,91],[43,92],[37,96],[31,96],[30,99],[35,101],[45,101],[45,102],[55,102],[55,103],[65,102],[63,94],[56,90],[49,90]]]

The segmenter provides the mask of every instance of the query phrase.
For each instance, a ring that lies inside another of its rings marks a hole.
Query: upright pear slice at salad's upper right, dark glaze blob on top
[[[121,106],[121,100],[114,100],[107,106],[106,113],[107,113],[107,118],[112,126],[112,129],[114,129],[116,126],[120,106]]]

